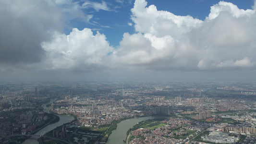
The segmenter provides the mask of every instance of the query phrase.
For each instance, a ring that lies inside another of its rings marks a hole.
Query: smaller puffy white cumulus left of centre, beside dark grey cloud
[[[98,66],[104,66],[108,53],[113,49],[105,35],[99,32],[93,35],[88,28],[82,31],[73,28],[68,36],[55,32],[53,40],[43,42],[42,48],[47,53],[45,68],[80,71],[91,71]]]

